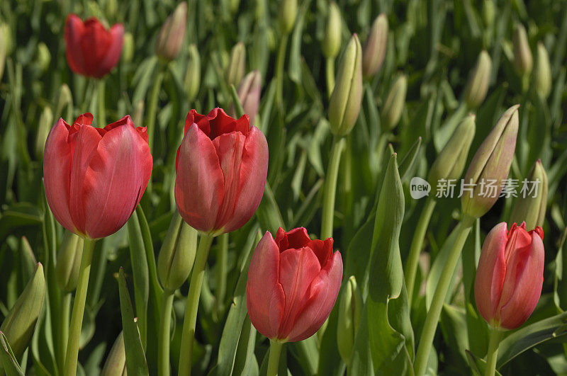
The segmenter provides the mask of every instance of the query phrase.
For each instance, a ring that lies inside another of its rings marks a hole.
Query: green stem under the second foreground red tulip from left
[[[183,332],[181,334],[181,346],[179,348],[179,353],[182,354],[179,357],[179,376],[191,375],[191,354],[193,353],[197,309],[199,297],[201,296],[201,286],[203,285],[203,275],[205,275],[205,266],[207,265],[208,251],[210,250],[210,244],[213,243],[213,238],[212,235],[201,234],[195,264],[193,265],[193,273],[191,273]]]

